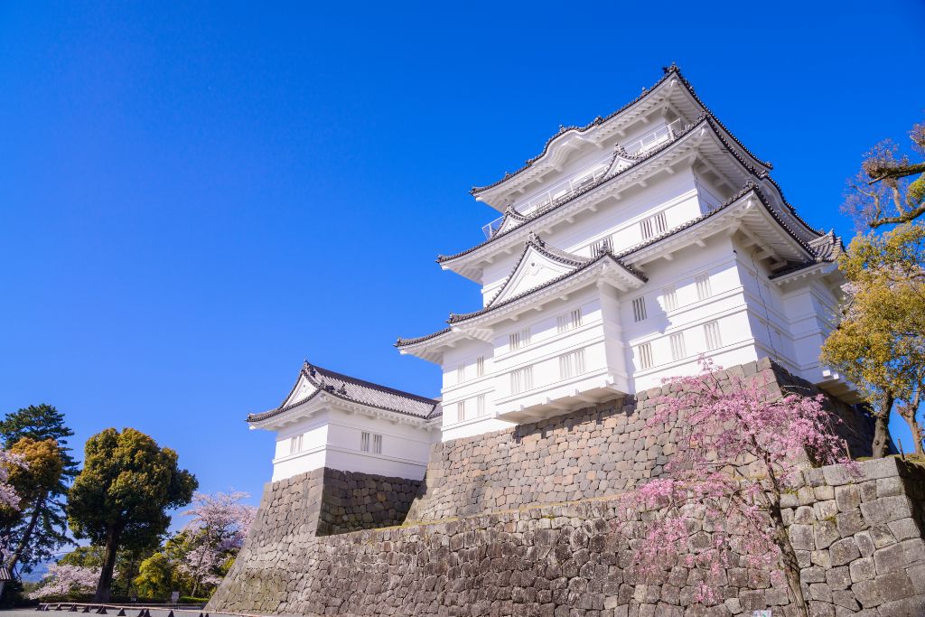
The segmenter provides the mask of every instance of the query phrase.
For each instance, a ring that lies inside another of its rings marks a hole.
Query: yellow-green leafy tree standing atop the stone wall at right
[[[821,359],[863,390],[873,412],[873,455],[886,454],[890,415],[909,425],[922,452],[917,414],[925,389],[925,226],[905,224],[858,236],[842,256],[842,321]]]

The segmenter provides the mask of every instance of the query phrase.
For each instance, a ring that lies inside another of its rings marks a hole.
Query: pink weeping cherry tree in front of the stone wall
[[[667,380],[672,393],[647,421],[667,437],[668,461],[663,475],[624,496],[635,573],[647,582],[676,565],[697,570],[696,600],[709,605],[722,601],[725,568],[739,565],[734,555],[752,568],[777,562],[808,616],[781,497],[808,464],[847,461],[838,420],[821,396],[780,396],[761,374],[748,379],[700,362],[699,375]]]

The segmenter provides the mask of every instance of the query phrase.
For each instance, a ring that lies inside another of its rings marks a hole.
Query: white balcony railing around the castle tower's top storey
[[[624,144],[623,150],[625,150],[627,154],[644,154],[660,146],[662,143],[671,142],[675,135],[681,130],[684,130],[684,128],[685,119],[679,117],[665,126],[650,130],[642,137]],[[543,191],[536,195],[529,202],[519,204],[517,209],[524,215],[536,216],[559,204],[569,201],[579,192],[585,191],[588,187],[594,185],[603,178],[604,174],[607,173],[608,167],[610,167],[611,158],[612,155],[608,154],[590,167],[552,185],[548,191]],[[617,167],[617,169],[620,170],[620,167]],[[482,227],[482,233],[485,234],[487,240],[490,240],[498,233],[503,220],[504,216],[502,215]]]

